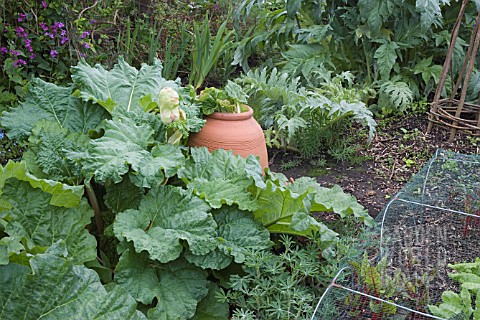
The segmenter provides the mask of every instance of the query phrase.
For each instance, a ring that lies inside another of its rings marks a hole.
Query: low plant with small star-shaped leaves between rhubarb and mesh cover
[[[218,299],[235,306],[234,319],[308,319],[321,294],[320,253],[314,241],[280,236],[272,251],[247,254]]]

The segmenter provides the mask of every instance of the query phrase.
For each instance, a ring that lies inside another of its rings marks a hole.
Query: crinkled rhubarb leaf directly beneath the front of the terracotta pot
[[[189,189],[205,199],[212,208],[236,204],[241,210],[253,211],[256,202],[247,190],[254,183],[255,173],[249,171],[245,159],[223,149],[208,152],[192,148],[192,157],[178,175]]]

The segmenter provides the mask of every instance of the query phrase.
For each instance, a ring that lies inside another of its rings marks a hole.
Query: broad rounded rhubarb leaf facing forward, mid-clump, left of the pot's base
[[[132,241],[135,250],[166,263],[183,251],[183,240],[193,254],[202,255],[216,246],[217,225],[203,200],[172,186],[151,189],[138,210],[117,215],[113,229],[119,239]]]

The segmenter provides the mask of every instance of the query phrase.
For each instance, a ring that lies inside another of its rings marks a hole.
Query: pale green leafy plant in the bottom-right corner
[[[452,280],[460,283],[460,293],[447,290],[442,293],[442,303],[429,305],[433,315],[450,319],[462,316],[464,319],[480,319],[479,276],[480,258],[475,262],[449,264],[455,273],[449,273]]]

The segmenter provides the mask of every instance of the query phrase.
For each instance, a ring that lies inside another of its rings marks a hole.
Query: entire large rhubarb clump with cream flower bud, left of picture
[[[26,148],[0,170],[2,318],[225,319],[218,274],[240,274],[271,234],[316,234],[331,256],[338,234],[311,212],[372,224],[338,186],[184,147],[200,107],[159,61],[72,73],[34,79],[1,118]]]

